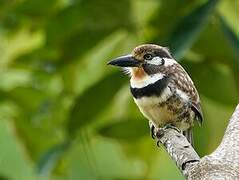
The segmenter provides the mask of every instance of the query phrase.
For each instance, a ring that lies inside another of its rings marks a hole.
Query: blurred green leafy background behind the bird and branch
[[[199,90],[204,156],[239,98],[238,0],[1,0],[0,179],[183,179],[106,62],[168,46]]]

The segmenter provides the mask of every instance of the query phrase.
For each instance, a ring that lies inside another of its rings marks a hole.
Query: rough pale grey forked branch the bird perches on
[[[239,105],[221,144],[210,155],[200,159],[187,139],[175,129],[166,129],[159,141],[187,179],[239,179]]]

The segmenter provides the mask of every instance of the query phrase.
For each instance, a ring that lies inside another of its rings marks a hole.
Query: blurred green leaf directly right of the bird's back
[[[209,62],[187,62],[185,67],[200,94],[223,104],[237,104],[239,92],[227,66]]]

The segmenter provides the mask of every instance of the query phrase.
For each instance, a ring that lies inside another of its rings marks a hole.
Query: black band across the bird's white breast
[[[141,97],[150,97],[150,96],[160,96],[163,90],[168,85],[168,78],[164,77],[159,79],[153,84],[149,84],[142,88],[132,88],[130,87],[130,91],[134,98],[138,99]]]

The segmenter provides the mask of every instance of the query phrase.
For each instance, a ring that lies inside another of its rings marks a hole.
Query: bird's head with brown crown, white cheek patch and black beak
[[[156,74],[160,67],[176,63],[169,50],[154,44],[137,46],[129,55],[121,56],[108,62],[110,65],[126,69],[131,76],[142,77]]]

